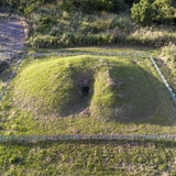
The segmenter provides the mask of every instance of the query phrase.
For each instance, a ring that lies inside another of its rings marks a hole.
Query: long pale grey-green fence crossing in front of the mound
[[[164,140],[176,141],[176,134],[54,134],[54,135],[0,135],[0,142],[89,141],[89,140]]]

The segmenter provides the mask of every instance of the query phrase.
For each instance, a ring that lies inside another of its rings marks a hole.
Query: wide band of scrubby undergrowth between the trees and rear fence
[[[30,24],[28,43],[38,48],[110,44],[161,47],[176,41],[175,26],[169,30],[162,25],[142,28],[133,23],[128,13],[68,12],[59,4],[47,4],[34,11]]]

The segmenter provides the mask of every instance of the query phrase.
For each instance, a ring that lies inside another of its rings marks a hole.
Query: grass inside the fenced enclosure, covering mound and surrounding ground
[[[90,55],[23,62],[1,105],[2,134],[175,133],[174,102],[150,59],[67,51]],[[80,77],[89,78],[88,97]]]

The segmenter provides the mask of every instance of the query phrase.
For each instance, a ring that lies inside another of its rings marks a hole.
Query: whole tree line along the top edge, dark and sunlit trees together
[[[131,18],[142,25],[176,23],[175,0],[0,0],[0,9],[30,16],[46,3],[57,3],[64,11],[121,13],[131,9]]]

